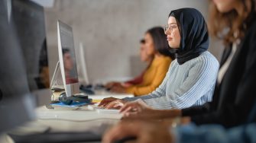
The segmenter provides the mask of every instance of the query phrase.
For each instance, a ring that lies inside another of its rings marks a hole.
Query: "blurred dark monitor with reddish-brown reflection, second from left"
[[[18,37],[29,90],[36,97],[37,106],[50,103],[50,79],[47,56],[44,7],[35,2],[12,0],[10,23]]]

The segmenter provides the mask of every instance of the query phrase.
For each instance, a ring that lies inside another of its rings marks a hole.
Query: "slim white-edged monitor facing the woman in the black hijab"
[[[79,81],[72,27],[61,21],[57,21],[57,34],[60,71],[66,96],[70,97],[71,95],[79,94]]]

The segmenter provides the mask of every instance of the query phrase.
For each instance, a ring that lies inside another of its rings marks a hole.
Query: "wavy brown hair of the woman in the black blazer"
[[[223,40],[225,45],[234,43],[245,36],[246,21],[254,11],[254,0],[237,0],[240,2],[238,11],[232,10],[221,13],[214,2],[209,6],[209,32],[213,37]],[[248,3],[248,4],[247,4]]]

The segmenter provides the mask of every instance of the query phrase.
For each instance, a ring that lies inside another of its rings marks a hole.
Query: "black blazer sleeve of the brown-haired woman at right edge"
[[[253,27],[251,31],[250,37],[246,37],[248,38],[248,54],[245,57],[246,63],[242,63],[245,68],[243,69],[241,79],[237,81],[236,94],[229,95],[234,96],[235,100],[232,103],[228,103],[228,100],[225,101],[222,109],[215,112],[191,116],[192,121],[197,125],[218,123],[231,127],[246,122],[248,114],[254,105],[256,93],[256,28]]]

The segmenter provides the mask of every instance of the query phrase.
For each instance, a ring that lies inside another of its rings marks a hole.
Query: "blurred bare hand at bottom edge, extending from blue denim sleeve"
[[[102,142],[111,143],[122,138],[134,137],[139,143],[173,142],[168,126],[160,122],[120,122],[105,132]]]

